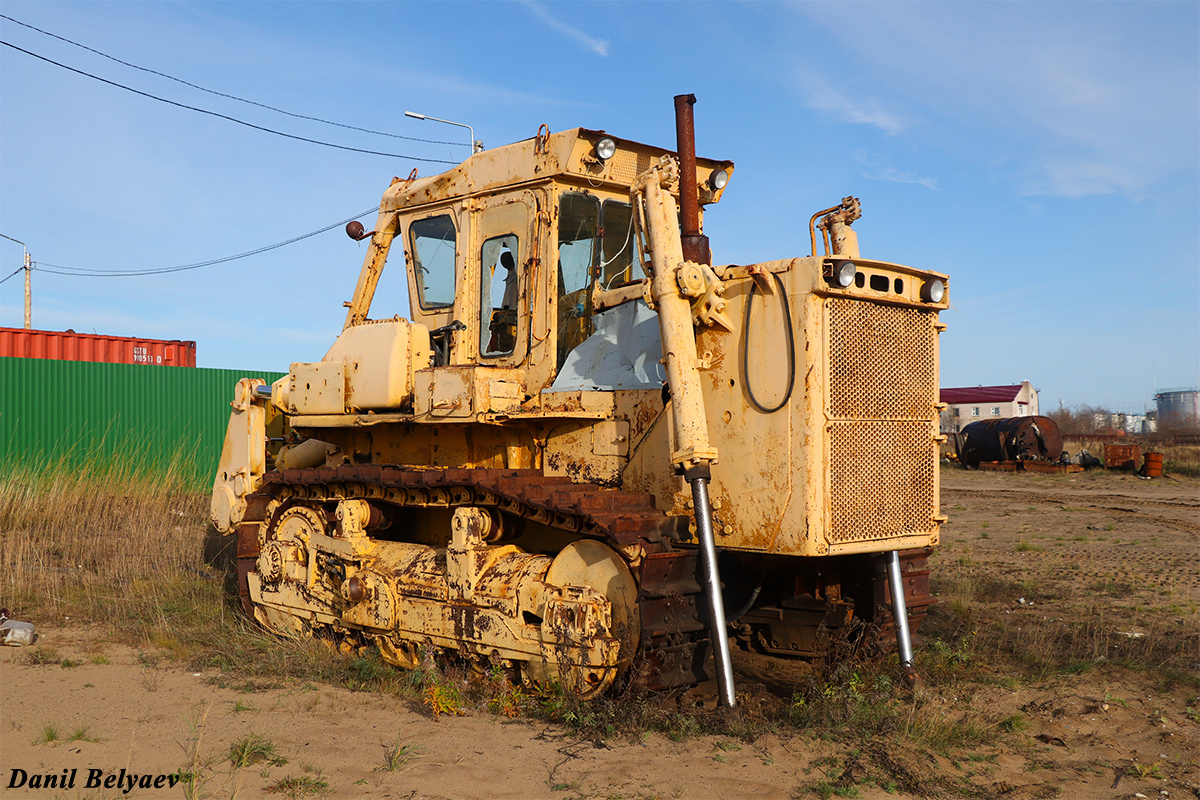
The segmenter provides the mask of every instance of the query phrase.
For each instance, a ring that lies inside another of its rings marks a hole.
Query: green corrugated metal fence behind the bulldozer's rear
[[[0,475],[163,470],[212,486],[240,378],[277,372],[0,357]]]

